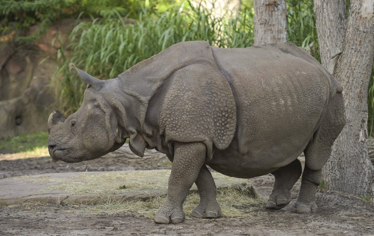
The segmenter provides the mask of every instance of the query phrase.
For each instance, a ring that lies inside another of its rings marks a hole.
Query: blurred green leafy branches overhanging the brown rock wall
[[[0,33],[5,33],[7,24],[14,22],[18,29],[37,29],[27,37],[18,40],[33,42],[40,39],[58,19],[91,16],[110,18],[116,15],[136,16],[140,11],[137,0],[2,0],[0,4]]]

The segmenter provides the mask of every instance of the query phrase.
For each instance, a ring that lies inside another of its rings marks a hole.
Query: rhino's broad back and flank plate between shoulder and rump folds
[[[294,160],[327,109],[331,86],[326,74],[297,50],[289,44],[212,47],[236,102],[237,143],[232,147],[254,168],[261,168],[264,157],[273,167]]]

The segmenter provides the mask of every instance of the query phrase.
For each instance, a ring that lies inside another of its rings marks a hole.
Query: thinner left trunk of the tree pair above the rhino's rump
[[[314,12],[318,34],[321,63],[327,71],[334,74],[335,62],[343,52],[343,42],[346,34],[345,0],[315,0]]]

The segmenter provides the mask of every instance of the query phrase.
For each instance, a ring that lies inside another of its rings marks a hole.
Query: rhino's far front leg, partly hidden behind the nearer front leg
[[[209,169],[203,165],[195,181],[199,190],[200,203],[191,215],[196,218],[218,218],[221,216],[221,208],[218,205],[214,179]]]

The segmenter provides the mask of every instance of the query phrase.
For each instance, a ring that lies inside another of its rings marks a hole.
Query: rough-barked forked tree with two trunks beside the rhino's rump
[[[373,0],[351,0],[344,36],[340,35],[343,27],[337,24],[344,22],[340,16],[336,18],[337,12],[344,8],[341,5],[344,6],[344,1],[326,1],[321,6],[320,0],[315,0],[321,58],[324,65],[330,67],[329,71],[333,63],[331,57],[335,56],[332,54],[343,48],[332,71],[344,87],[347,116],[347,124],[332,146],[330,159],[324,167],[324,182],[328,189],[370,196],[374,201],[374,169],[367,147],[367,91],[374,58],[374,4]],[[334,16],[324,19],[319,15],[321,12],[318,11],[322,11],[327,16],[326,10]],[[334,39],[341,40],[341,46],[336,45]]]

